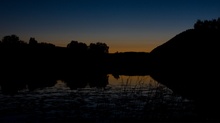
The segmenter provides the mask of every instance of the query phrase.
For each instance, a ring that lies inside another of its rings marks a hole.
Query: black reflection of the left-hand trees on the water
[[[96,87],[105,88],[108,85],[108,74],[105,73],[90,73],[90,74],[73,74],[71,76],[51,77],[38,79],[8,79],[1,80],[1,92],[3,94],[16,94],[21,90],[34,91],[39,88],[52,87],[57,84],[58,80],[64,81],[70,89]]]

